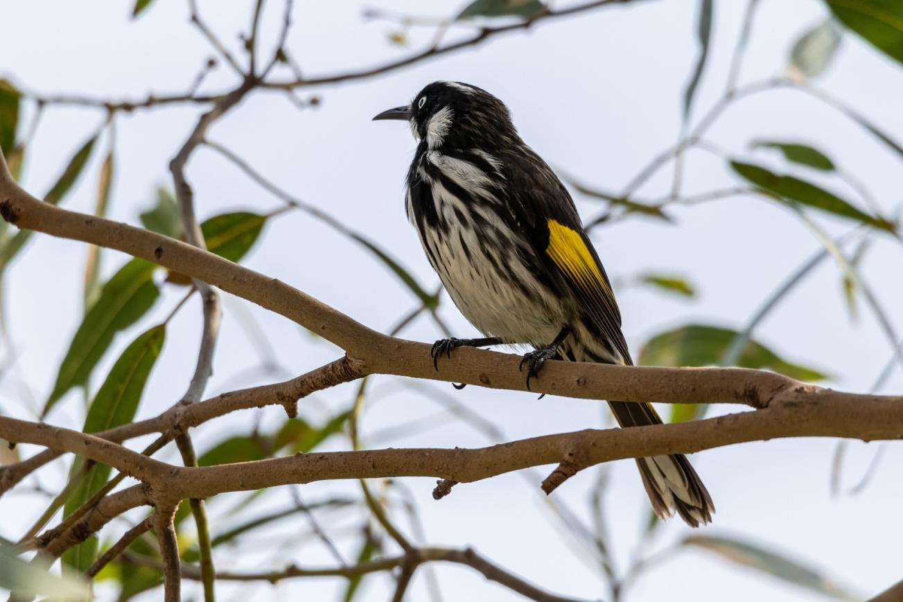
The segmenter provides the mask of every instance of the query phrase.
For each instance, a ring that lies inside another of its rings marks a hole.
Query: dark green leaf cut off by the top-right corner
[[[903,3],[899,0],[826,0],[841,23],[903,62]]]

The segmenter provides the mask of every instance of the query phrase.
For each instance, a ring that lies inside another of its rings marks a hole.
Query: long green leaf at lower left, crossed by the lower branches
[[[144,393],[144,384],[151,374],[163,340],[166,338],[166,327],[161,324],[147,330],[126,347],[116,364],[110,369],[107,380],[100,386],[98,394],[88,408],[85,417],[84,432],[106,431],[126,424],[135,419],[138,403]],[[72,472],[76,474],[83,465],[84,458],[76,458]],[[79,487],[72,493],[64,506],[63,515],[72,514],[80,505],[96,494],[109,480],[110,468],[96,464],[88,469],[88,474]],[[87,570],[97,558],[98,539],[91,536],[85,542],[67,551],[63,560],[80,571]]]

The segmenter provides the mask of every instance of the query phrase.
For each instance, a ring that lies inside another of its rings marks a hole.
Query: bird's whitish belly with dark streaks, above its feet
[[[507,343],[546,345],[566,323],[563,307],[539,282],[512,241],[480,241],[467,225],[424,232],[427,255],[465,318]]]

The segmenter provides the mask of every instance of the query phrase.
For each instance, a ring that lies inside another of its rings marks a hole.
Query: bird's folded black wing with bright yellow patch
[[[526,181],[511,182],[520,191],[514,207],[528,230],[535,253],[547,267],[562,276],[582,302],[589,320],[608,338],[625,363],[630,364],[611,282],[582,227],[570,193],[554,171],[534,153],[521,161],[525,164],[509,172],[512,177],[517,177],[516,174],[526,177]]]

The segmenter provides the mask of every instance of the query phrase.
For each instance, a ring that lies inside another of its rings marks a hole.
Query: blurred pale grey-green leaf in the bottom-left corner
[[[12,546],[0,543],[0,588],[21,596],[47,596],[54,600],[90,600],[88,582],[75,576],[54,575],[50,567],[19,558]],[[18,597],[15,597],[19,599]]]

